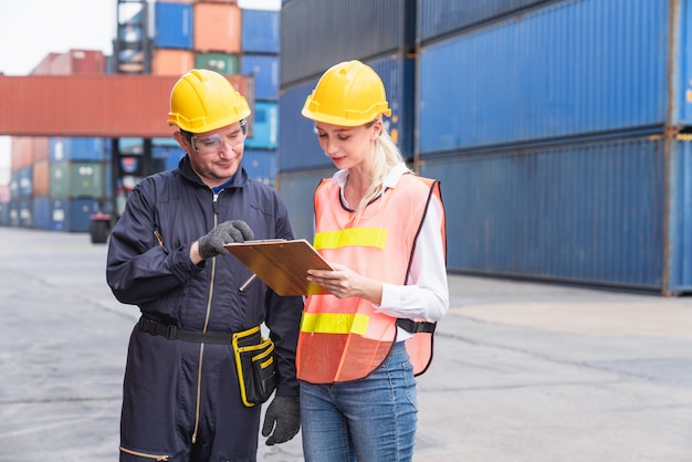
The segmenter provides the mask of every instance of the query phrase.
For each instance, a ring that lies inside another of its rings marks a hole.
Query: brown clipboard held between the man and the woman
[[[307,270],[332,270],[305,239],[269,239],[223,245],[279,295],[324,292],[306,281]]]

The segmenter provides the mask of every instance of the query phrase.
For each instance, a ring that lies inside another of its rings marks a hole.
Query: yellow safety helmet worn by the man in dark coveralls
[[[168,125],[190,133],[207,133],[250,115],[243,95],[221,74],[193,69],[170,92]]]

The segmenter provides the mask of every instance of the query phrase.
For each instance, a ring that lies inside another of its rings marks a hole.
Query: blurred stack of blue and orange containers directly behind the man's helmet
[[[241,9],[234,1],[158,1],[154,3],[154,23],[153,74],[182,75],[197,67],[253,77],[244,165],[252,167],[249,170],[255,179],[273,183],[279,136],[279,11]]]

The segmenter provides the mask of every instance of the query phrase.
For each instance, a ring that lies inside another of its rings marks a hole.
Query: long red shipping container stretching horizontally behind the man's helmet
[[[170,91],[180,75],[0,75],[0,134],[170,137]],[[226,77],[254,107],[252,77]],[[31,146],[13,143],[12,153],[13,170],[33,162]]]

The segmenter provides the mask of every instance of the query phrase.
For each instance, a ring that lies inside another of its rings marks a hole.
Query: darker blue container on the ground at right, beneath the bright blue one
[[[420,171],[441,180],[451,271],[692,291],[691,141],[444,156]]]

